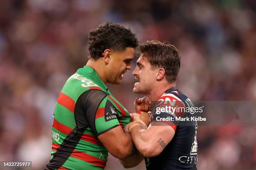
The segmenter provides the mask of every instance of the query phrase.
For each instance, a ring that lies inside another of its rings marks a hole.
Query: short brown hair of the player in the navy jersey
[[[166,80],[174,82],[180,68],[180,53],[169,42],[147,41],[138,47],[139,53],[145,57],[152,68],[164,68]]]

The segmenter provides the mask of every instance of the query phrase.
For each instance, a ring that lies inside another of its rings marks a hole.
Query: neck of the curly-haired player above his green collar
[[[107,78],[104,72],[104,66],[102,65],[102,62],[100,62],[101,58],[98,60],[88,60],[88,62],[86,63],[86,66],[88,67],[92,67],[97,74],[99,75],[100,79],[102,80],[102,82],[104,82],[104,84],[107,84]]]

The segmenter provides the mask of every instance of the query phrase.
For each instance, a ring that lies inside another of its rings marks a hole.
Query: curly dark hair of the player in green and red
[[[105,49],[113,51],[124,50],[126,47],[136,48],[138,40],[130,28],[111,22],[100,25],[95,30],[91,30],[88,40],[89,58],[97,60],[102,57]]]

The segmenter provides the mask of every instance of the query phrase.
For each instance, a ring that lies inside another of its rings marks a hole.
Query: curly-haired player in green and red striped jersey
[[[69,77],[56,103],[46,170],[104,169],[108,152],[119,159],[134,152],[131,136],[123,132],[131,117],[105,84],[122,82],[137,45],[135,34],[118,24],[90,32],[90,60]]]

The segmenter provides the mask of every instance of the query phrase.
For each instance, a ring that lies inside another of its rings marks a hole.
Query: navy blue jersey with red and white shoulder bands
[[[176,107],[176,110],[156,113],[156,107],[169,105],[172,108]],[[192,107],[194,105],[189,98],[175,87],[160,97],[153,108],[151,122],[164,122],[174,128],[175,134],[158,156],[145,158],[147,170],[197,170],[197,121],[193,120],[196,117],[195,112],[188,111]],[[160,120],[167,117],[174,118]]]

